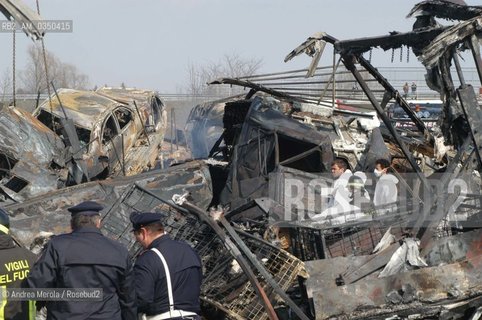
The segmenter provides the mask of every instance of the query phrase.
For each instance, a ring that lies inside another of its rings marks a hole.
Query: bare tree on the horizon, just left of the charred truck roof
[[[244,59],[238,54],[225,54],[218,62],[206,65],[188,66],[187,93],[192,95],[231,95],[236,88],[208,86],[207,83],[223,77],[237,78],[255,74],[262,65],[262,59]],[[228,91],[226,91],[228,90]]]

